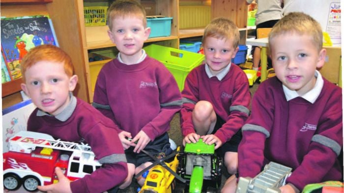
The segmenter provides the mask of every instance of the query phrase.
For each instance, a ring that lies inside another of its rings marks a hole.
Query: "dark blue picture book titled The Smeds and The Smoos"
[[[1,52],[10,80],[22,77],[20,63],[28,51],[42,44],[58,46],[51,20],[47,16],[1,18]],[[1,69],[2,64],[1,64]],[[2,74],[2,79],[4,74]],[[2,83],[4,83],[2,81]]]

